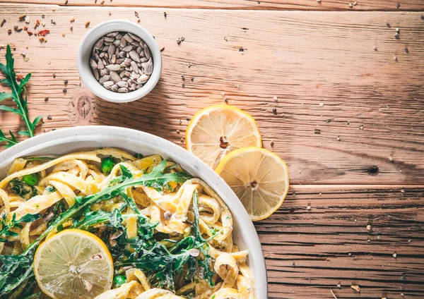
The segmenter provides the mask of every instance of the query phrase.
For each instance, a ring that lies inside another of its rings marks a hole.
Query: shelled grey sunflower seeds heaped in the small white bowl
[[[146,84],[153,58],[143,40],[129,32],[110,32],[95,42],[90,67],[96,80],[112,92],[131,92]]]

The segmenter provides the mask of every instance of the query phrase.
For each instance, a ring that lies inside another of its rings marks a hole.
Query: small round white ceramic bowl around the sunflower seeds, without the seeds
[[[139,90],[134,90],[134,92],[119,93],[107,90],[98,83],[98,80],[95,79],[90,68],[90,54],[95,42],[97,42],[100,37],[114,31],[131,32],[132,34],[137,35],[146,42],[152,53],[153,72],[151,74],[151,78],[149,78],[143,87]],[[83,80],[83,83],[87,85],[93,94],[101,97],[102,99],[106,99],[107,101],[117,103],[132,102],[144,97],[146,94],[151,92],[153,87],[155,87],[158,83],[160,72],[162,71],[162,56],[155,39],[146,29],[128,20],[108,20],[93,27],[79,45],[76,63],[81,80]]]

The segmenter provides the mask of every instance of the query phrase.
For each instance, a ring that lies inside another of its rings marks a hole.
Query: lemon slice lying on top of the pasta
[[[33,267],[38,286],[51,298],[91,299],[112,288],[112,256],[87,231],[66,229],[48,238],[35,252]]]

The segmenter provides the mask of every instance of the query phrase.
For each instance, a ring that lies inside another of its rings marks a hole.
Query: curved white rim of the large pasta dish
[[[231,190],[230,186],[225,183],[223,178],[218,176],[218,173],[207,166],[204,161],[201,161],[201,159],[194,156],[194,154],[188,152],[183,147],[179,147],[179,145],[176,145],[173,142],[160,138],[156,135],[131,128],[115,126],[77,126],[72,128],[61,128],[59,130],[50,131],[49,133],[36,135],[33,138],[24,140],[23,142],[18,143],[18,145],[14,145],[13,147],[4,150],[4,152],[0,152],[0,176],[2,175],[2,172],[5,172],[4,170],[10,165],[13,159],[28,156],[31,152],[34,153],[43,149],[45,150],[48,146],[54,147],[72,142],[96,142],[97,140],[89,138],[96,138],[100,136],[103,138],[102,142],[105,142],[105,140],[116,142],[115,145],[110,145],[110,147],[117,147],[124,150],[130,145],[127,144],[125,146],[119,142],[124,142],[124,140],[130,139],[134,140],[133,143],[138,142],[143,143],[146,147],[156,147],[158,148],[158,154],[161,156],[172,157],[174,161],[177,161],[180,164],[180,161],[183,161],[185,164],[182,166],[183,169],[186,169],[189,173],[192,173],[192,175],[201,178],[203,181],[206,181],[208,185],[211,185],[211,188],[213,188],[213,190],[215,190],[216,193],[223,198],[225,204],[228,205],[232,213],[235,226],[237,227],[235,232],[237,234],[240,233],[240,237],[245,243],[246,249],[249,251],[249,267],[252,270],[252,275],[254,276],[257,298],[268,298],[266,264],[261,243],[259,241],[257,231],[254,228],[245,208],[242,206],[242,203],[237,198],[237,195],[235,195],[235,193]],[[114,137],[118,139],[116,141],[111,139]],[[121,138],[121,140],[119,140],[119,138]],[[88,147],[93,148],[93,146]],[[101,146],[99,145],[98,147]],[[62,150],[61,152],[62,153],[60,154],[63,154],[64,151]],[[52,154],[55,154],[54,149],[52,150]]]

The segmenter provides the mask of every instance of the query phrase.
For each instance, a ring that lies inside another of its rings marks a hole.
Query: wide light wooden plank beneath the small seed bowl
[[[112,104],[79,86],[76,49],[87,20],[90,27],[112,18],[135,20],[134,10],[114,8],[108,16],[108,8],[52,8],[0,5],[6,18],[0,39],[16,44],[16,69],[33,73],[28,100],[32,116],[44,116],[40,132],[104,124],[145,130],[183,146],[187,119],[228,97],[257,119],[264,147],[288,162],[293,184],[423,181],[420,13],[168,9],[164,18],[163,9],[139,9],[141,25],[165,47],[163,74],[145,99]],[[32,22],[45,14],[52,31],[47,43],[25,32],[7,35],[23,13]],[[181,36],[185,41],[178,45]],[[86,103],[79,112],[78,102]],[[22,126],[10,113],[0,119],[6,130]]]

